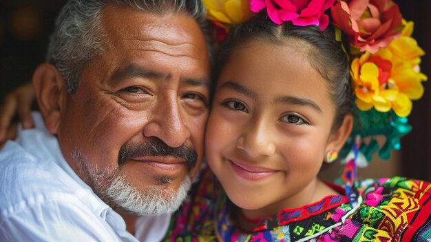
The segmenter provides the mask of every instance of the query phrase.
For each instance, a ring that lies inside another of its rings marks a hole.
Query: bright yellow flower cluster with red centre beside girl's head
[[[406,32],[411,30],[408,27]],[[423,95],[421,81],[427,77],[419,71],[423,50],[410,36],[392,41],[375,54],[366,52],[353,60],[351,76],[355,83],[355,101],[359,110],[375,108],[379,112],[394,110],[399,117],[412,111],[412,100]]]

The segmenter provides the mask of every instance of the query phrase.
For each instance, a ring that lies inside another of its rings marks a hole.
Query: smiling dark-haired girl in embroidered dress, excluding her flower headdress
[[[353,128],[349,63],[335,37],[266,12],[230,30],[206,134],[217,178],[202,174],[166,241],[431,239],[430,183],[341,188],[317,178]]]

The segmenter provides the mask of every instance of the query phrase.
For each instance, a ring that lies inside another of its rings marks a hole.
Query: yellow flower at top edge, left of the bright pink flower
[[[243,23],[255,15],[246,0],[203,0],[208,19],[227,25]]]

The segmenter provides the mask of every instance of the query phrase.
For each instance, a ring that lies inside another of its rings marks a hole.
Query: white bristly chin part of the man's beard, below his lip
[[[178,192],[167,186],[139,190],[132,187],[122,174],[118,174],[103,192],[121,208],[138,215],[156,215],[174,212],[187,197],[191,186],[189,176],[182,181]]]

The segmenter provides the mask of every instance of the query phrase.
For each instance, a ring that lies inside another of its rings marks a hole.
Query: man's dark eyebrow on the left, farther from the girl
[[[119,81],[122,79],[127,79],[131,77],[143,77],[148,79],[162,79],[167,80],[171,79],[171,75],[164,74],[162,72],[156,72],[153,70],[145,70],[145,68],[140,67],[134,63],[130,63],[125,65],[125,67],[120,68],[112,74],[112,81]]]

